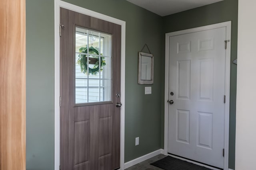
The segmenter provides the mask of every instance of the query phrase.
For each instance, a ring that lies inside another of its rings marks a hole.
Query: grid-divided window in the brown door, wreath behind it
[[[75,104],[111,101],[111,35],[76,27],[75,37]]]

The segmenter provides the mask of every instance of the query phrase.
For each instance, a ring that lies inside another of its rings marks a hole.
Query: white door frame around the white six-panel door
[[[192,29],[185,29],[182,31],[175,31],[165,34],[165,94],[164,94],[164,154],[168,154],[168,89],[169,89],[169,37],[181,35],[186,33],[193,33],[198,31],[205,31],[209,29],[216,29],[226,27],[226,40],[231,40],[231,21],[196,27]],[[228,135],[229,135],[229,98],[230,98],[230,42],[227,43],[226,61],[225,61],[225,94],[226,104],[224,108],[224,170],[228,170]],[[224,47],[223,47],[224,48]]]

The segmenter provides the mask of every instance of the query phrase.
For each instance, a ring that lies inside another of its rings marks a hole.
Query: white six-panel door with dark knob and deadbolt
[[[168,153],[218,168],[224,167],[225,38],[221,27],[169,39]]]

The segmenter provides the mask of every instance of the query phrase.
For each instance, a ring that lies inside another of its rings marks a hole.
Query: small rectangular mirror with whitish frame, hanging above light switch
[[[153,84],[154,55],[139,52],[138,84]]]

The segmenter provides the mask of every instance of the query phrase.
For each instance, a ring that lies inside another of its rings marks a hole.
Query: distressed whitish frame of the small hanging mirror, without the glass
[[[151,79],[150,80],[141,80],[142,56],[151,57]],[[138,66],[138,84],[153,84],[153,82],[154,82],[154,55],[139,52],[139,64],[138,65],[139,65]]]

